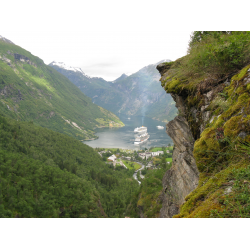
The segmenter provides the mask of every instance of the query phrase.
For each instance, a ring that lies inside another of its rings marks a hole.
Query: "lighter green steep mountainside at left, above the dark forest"
[[[81,70],[74,70],[83,76]],[[124,126],[116,115],[93,104],[65,76],[2,36],[0,114],[79,140],[97,138],[97,127]]]

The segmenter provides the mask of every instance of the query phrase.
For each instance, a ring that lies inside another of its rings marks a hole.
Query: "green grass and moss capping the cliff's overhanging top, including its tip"
[[[162,86],[167,93],[192,93],[198,86],[202,91],[226,79],[250,62],[249,38],[250,32],[244,31],[208,32],[202,39],[191,39],[188,55],[172,64],[161,78]]]

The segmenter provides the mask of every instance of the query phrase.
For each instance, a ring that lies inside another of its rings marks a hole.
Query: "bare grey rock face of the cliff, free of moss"
[[[161,75],[164,65],[157,67]],[[166,125],[166,132],[174,142],[172,167],[163,177],[163,203],[160,218],[171,218],[179,213],[185,197],[198,185],[199,172],[193,156],[194,137],[184,116],[186,106],[181,96],[171,94],[181,115]]]

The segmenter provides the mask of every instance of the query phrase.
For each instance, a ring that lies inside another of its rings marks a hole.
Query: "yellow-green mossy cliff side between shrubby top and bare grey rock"
[[[174,218],[230,217],[232,206],[237,217],[244,204],[235,198],[240,192],[235,191],[235,176],[250,165],[250,65],[218,79],[181,79],[174,65],[163,72],[161,83],[183,100],[181,115],[196,140],[193,155],[200,172],[197,188]]]

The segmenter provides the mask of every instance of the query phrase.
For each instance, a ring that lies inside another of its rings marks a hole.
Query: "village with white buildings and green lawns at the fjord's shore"
[[[143,180],[147,169],[158,169],[172,163],[173,146],[156,147],[140,151],[117,148],[96,148],[98,154],[106,164],[115,170],[117,167],[124,167],[135,171],[134,178]]]

